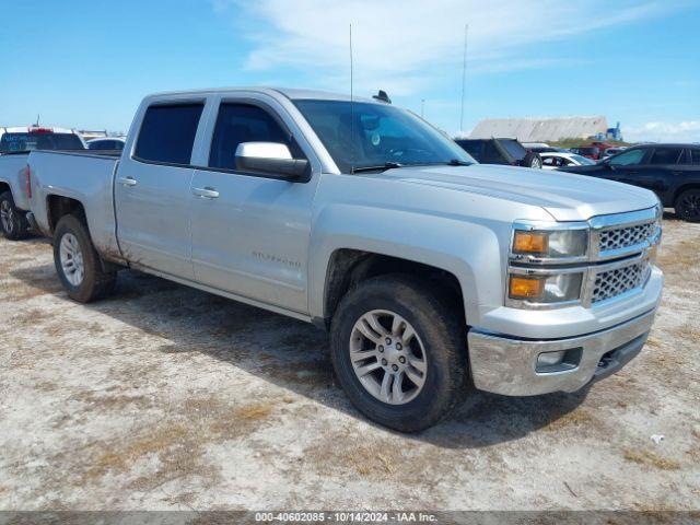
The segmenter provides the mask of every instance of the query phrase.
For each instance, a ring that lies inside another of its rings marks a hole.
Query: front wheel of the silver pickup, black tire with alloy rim
[[[330,326],[331,360],[350,401],[371,420],[401,432],[419,432],[447,416],[466,396],[466,324],[458,308],[446,304],[448,302],[441,295],[434,287],[397,275],[370,279],[341,300]],[[394,314],[394,317],[386,316],[386,313]],[[380,329],[371,330],[375,340],[362,331],[369,324],[362,330],[358,329],[368,315],[374,316],[380,328],[384,328],[378,338]],[[397,317],[400,318],[399,328],[392,331],[392,320]],[[407,327],[412,328],[415,337],[406,336],[410,331]],[[406,339],[397,337],[401,331]],[[381,345],[381,341],[387,343],[389,339],[390,345]],[[406,348],[398,348],[398,341]],[[361,353],[368,348],[374,348],[374,354],[366,360],[359,359],[360,355],[370,355]],[[401,358],[407,364],[400,364]],[[385,359],[384,365],[381,365],[381,359]],[[355,368],[364,366],[374,370],[361,380]],[[382,398],[384,378],[392,374],[387,370],[395,370],[393,366],[402,368],[393,372],[394,378],[387,387],[392,390],[390,398]],[[401,392],[395,396],[396,377],[401,377],[398,386]],[[411,377],[422,378],[422,386],[419,387]],[[371,385],[371,388],[365,385]]]

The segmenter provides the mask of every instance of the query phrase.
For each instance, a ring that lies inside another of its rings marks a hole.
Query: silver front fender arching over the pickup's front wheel
[[[421,262],[454,275],[468,322],[477,319],[479,302],[497,307],[502,300],[500,259],[508,247],[500,246],[499,236],[510,235],[510,231],[499,234],[502,229],[424,211],[352,203],[325,206],[315,218],[312,234],[310,312],[314,317],[324,316],[328,265],[334,252],[347,248]]]

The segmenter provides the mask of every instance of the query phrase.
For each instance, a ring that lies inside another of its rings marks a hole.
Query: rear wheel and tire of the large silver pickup
[[[116,271],[103,269],[88,228],[74,215],[65,215],[58,221],[54,233],[54,264],[68,296],[74,301],[90,303],[114,292]]]

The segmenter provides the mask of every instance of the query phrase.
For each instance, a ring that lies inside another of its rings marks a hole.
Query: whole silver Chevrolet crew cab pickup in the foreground
[[[471,388],[572,392],[644,345],[649,190],[476,163],[375,100],[148,96],[119,159],[33,152],[32,211],[77,301],[136,268],[316,323],[347,395],[420,431]]]

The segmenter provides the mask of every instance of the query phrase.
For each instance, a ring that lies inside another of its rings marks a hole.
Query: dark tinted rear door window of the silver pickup
[[[136,156],[139,160],[189,165],[203,104],[151,106],[145,110]]]

